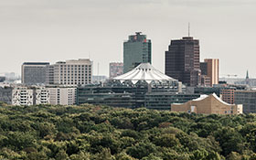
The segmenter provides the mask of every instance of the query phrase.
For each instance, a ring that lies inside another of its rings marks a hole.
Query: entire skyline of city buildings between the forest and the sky
[[[91,59],[25,62],[21,84],[0,87],[0,101],[219,114],[256,112],[256,91],[248,88],[249,75],[241,84],[220,81],[219,59],[200,61],[199,40],[190,36],[171,40],[165,51],[165,73],[152,66],[152,42],[141,32],[123,42],[123,62],[110,63],[109,78],[92,75],[92,64]],[[0,82],[4,80],[0,77]]]

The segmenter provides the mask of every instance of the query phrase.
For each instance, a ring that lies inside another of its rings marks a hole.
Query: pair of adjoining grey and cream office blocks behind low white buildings
[[[25,62],[22,65],[22,84],[27,85],[85,85],[91,83],[92,61],[78,59],[48,62]]]

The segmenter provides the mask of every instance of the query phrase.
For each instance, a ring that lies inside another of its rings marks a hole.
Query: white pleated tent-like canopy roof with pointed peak
[[[149,63],[141,63],[135,69],[114,78],[113,80],[131,80],[133,84],[135,84],[139,80],[144,80],[147,83],[151,83],[152,81],[177,81],[169,76],[166,76],[161,71],[155,69]]]

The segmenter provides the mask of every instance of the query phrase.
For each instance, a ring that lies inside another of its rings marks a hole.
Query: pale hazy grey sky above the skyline
[[[200,40],[200,59],[220,59],[220,77],[256,77],[255,0],[0,0],[0,72],[25,61],[91,58],[94,73],[123,61],[136,31],[152,40],[153,65],[165,71],[171,39]]]

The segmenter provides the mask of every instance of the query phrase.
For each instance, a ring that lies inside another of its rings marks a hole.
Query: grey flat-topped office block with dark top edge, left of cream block
[[[48,62],[25,62],[21,66],[21,82],[23,84],[46,83]]]

